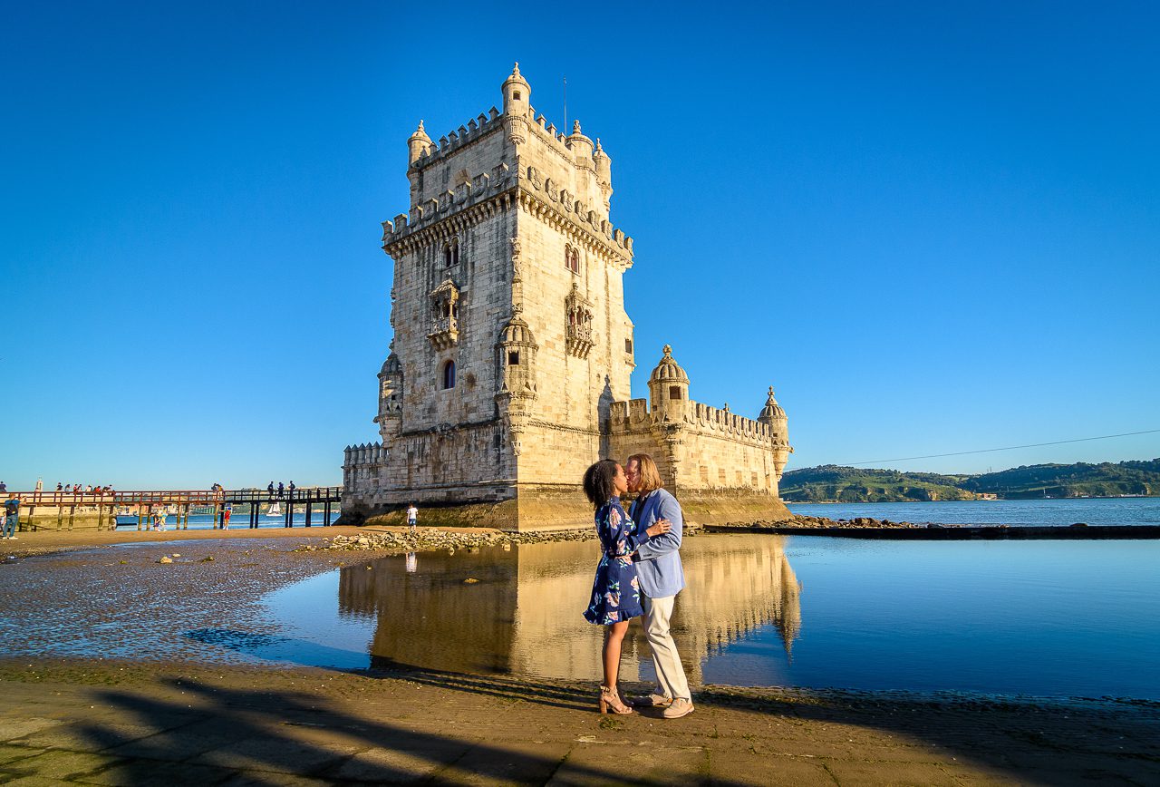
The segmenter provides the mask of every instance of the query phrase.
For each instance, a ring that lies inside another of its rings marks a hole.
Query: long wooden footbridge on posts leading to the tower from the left
[[[293,491],[287,489],[282,492],[264,489],[224,489],[218,491],[205,490],[136,490],[136,491],[109,491],[109,492],[57,492],[42,490],[32,492],[7,492],[0,494],[2,499],[12,497],[20,498],[20,522],[24,529],[41,529],[45,514],[50,521],[56,520],[56,528],[73,529],[77,519],[90,520],[96,518],[97,529],[116,529],[117,512],[133,511],[137,515],[137,529],[142,529],[154,511],[176,510],[177,529],[189,527],[190,513],[209,513],[213,517],[217,527],[225,524],[226,506],[231,512],[233,506],[248,506],[248,526],[258,527],[262,518],[262,506],[275,504],[284,508],[281,514],[283,527],[293,526],[293,513],[298,507],[304,508],[306,527],[312,525],[311,519],[314,506],[321,505],[321,525],[331,524],[331,507],[333,504],[342,503],[341,486],[300,486]],[[36,510],[41,508],[41,521],[37,521]],[[197,511],[195,511],[197,510]],[[67,513],[66,513],[67,512]],[[52,514],[56,514],[55,517]]]

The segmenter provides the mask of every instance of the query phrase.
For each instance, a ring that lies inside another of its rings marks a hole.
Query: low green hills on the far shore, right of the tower
[[[1160,459],[1118,464],[1032,464],[960,476],[824,464],[786,472],[781,494],[790,503],[973,500],[983,494],[1005,499],[1160,494]]]

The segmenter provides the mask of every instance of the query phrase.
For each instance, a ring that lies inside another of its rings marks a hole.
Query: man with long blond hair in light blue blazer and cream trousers
[[[693,695],[684,677],[684,666],[676,654],[676,643],[669,634],[669,620],[676,594],[684,587],[684,569],[681,566],[681,505],[661,486],[657,463],[648,454],[633,454],[624,463],[624,475],[629,491],[637,499],[629,515],[637,529],[647,528],[660,520],[668,520],[672,529],[641,542],[632,556],[640,582],[641,606],[645,609],[645,637],[653,652],[657,670],[657,688],[636,705],[664,707],[665,719],[680,719],[693,713]]]

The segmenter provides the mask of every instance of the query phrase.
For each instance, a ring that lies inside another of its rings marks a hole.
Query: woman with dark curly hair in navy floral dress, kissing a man
[[[592,586],[592,602],[583,613],[589,623],[604,627],[601,713],[608,713],[609,709],[612,713],[632,713],[632,708],[621,701],[617,691],[624,634],[629,630],[629,621],[644,614],[632,553],[644,540],[669,528],[667,521],[659,521],[644,533],[638,533],[621,507],[621,494],[626,491],[629,482],[624,477],[624,468],[612,460],[601,460],[583,474],[583,492],[596,508],[596,535],[602,550]]]

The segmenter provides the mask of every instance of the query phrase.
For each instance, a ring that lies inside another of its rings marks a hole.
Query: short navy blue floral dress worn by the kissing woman
[[[603,554],[585,620],[607,626],[645,614],[632,553],[648,536],[636,532],[636,525],[621,507],[621,498],[614,497],[596,511],[596,535]]]

